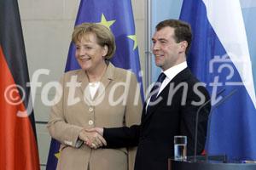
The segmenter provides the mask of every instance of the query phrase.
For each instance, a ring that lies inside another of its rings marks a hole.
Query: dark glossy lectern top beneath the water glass
[[[256,170],[256,163],[192,162],[168,159],[168,170]]]

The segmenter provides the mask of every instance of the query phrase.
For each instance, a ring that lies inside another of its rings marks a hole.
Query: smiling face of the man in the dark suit
[[[174,28],[166,26],[160,31],[156,31],[152,42],[155,65],[159,66],[163,71],[185,61],[187,42],[175,41]]]

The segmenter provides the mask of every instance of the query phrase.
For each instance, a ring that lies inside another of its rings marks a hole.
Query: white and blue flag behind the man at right
[[[189,68],[207,83],[213,108],[236,90],[212,110],[207,153],[256,160],[255,88],[239,0],[183,0],[180,19],[189,22],[194,36]]]

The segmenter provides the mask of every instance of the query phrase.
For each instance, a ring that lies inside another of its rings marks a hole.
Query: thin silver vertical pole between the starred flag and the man
[[[146,41],[145,41],[145,88],[144,90],[146,91],[150,82],[151,82],[151,77],[152,77],[152,68],[151,68],[151,58],[152,58],[152,52],[151,52],[151,34],[152,34],[152,11],[151,11],[151,0],[146,1]]]

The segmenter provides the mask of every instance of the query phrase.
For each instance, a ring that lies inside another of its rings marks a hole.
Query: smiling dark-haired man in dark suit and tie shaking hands
[[[151,90],[152,95],[143,106],[141,124],[93,129],[103,135],[108,148],[137,146],[136,170],[166,170],[167,158],[174,155],[176,135],[187,136],[188,155],[194,153],[196,112],[210,98],[203,83],[187,67],[191,39],[189,24],[180,20],[161,21],[152,42],[155,64],[162,73],[158,88]],[[210,110],[209,103],[199,113],[198,154],[205,146]],[[96,146],[92,142],[88,144]]]

